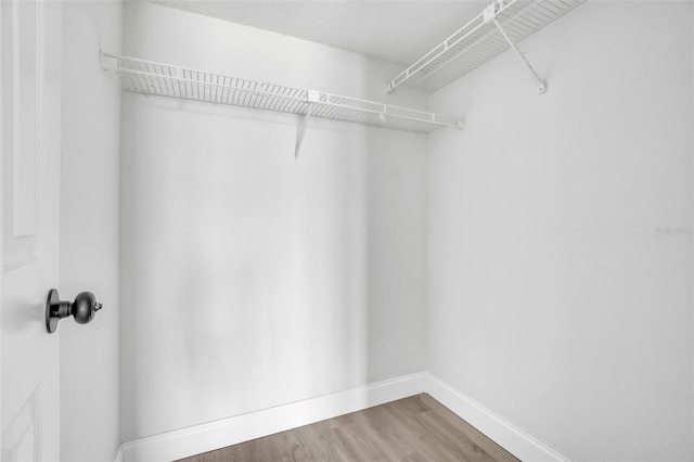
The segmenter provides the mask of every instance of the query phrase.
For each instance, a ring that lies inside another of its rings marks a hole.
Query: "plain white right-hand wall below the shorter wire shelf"
[[[588,2],[429,99],[428,368],[576,461],[692,460],[692,2]]]

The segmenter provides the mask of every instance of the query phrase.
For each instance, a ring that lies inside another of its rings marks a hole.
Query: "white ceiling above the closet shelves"
[[[156,3],[410,65],[490,0],[153,0]]]

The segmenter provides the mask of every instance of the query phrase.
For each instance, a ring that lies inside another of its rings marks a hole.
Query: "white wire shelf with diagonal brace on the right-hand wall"
[[[509,48],[538,80],[515,43],[583,3],[586,0],[496,0],[453,35],[424,54],[388,84],[388,92],[403,86],[433,93]]]

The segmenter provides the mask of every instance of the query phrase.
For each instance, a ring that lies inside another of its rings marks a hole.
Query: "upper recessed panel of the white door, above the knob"
[[[20,8],[20,4],[22,7]],[[43,2],[7,3],[2,16],[2,267],[10,270],[41,259],[41,170],[43,94]],[[7,10],[5,10],[7,11]]]

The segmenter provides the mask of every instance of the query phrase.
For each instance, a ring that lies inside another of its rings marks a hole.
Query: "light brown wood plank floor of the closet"
[[[206,452],[187,462],[517,461],[426,394]]]

